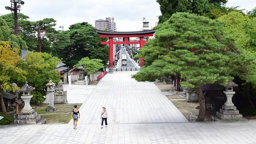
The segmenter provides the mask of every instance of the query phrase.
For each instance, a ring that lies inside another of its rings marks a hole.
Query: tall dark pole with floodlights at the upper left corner
[[[22,0],[11,0],[11,6],[5,6],[6,10],[11,10],[12,13],[12,17],[14,18],[14,34],[18,35],[18,10],[20,13],[21,10],[21,6],[20,4],[24,4],[25,2]],[[18,4],[18,5],[17,5]]]

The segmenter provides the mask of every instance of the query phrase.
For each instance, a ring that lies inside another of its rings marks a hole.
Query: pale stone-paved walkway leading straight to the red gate
[[[136,72],[107,74],[94,88],[79,111],[80,124],[100,124],[106,107],[109,123],[188,122],[152,82],[137,82]]]

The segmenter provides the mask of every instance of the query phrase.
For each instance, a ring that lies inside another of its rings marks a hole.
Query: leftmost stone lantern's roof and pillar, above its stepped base
[[[30,100],[33,97],[33,95],[31,95],[30,92],[34,89],[35,88],[29,86],[28,82],[26,81],[24,86],[22,86],[20,90],[18,90],[18,92],[22,92],[22,96],[20,98],[22,98],[22,100],[25,103],[24,108],[22,108],[21,114],[32,114],[34,112],[32,107],[30,106]]]

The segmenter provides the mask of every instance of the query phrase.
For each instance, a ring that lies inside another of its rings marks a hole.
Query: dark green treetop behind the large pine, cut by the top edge
[[[162,16],[159,17],[159,23],[168,20],[176,12],[190,12],[209,16],[211,9],[220,9],[227,0],[156,0],[160,5]]]

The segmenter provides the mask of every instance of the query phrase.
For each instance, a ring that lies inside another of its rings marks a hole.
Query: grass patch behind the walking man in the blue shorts
[[[32,107],[41,118],[46,118],[47,124],[67,124],[71,120],[71,111],[74,105],[77,105],[79,109],[82,104],[54,104],[54,107],[58,109],[56,112],[46,112],[48,104],[33,105]]]

